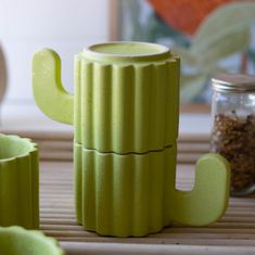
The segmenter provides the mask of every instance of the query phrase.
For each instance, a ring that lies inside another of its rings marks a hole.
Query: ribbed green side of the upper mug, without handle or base
[[[75,141],[100,152],[163,150],[178,136],[179,60],[75,61]]]

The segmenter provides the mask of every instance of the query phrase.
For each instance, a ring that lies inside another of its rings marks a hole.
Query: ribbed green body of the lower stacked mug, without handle
[[[77,221],[115,237],[142,237],[170,224],[176,146],[117,155],[75,145]]]

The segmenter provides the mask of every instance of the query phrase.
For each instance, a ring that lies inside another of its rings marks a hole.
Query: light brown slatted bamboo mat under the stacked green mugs
[[[85,231],[75,221],[72,136],[34,137],[41,148],[40,221],[67,254],[255,254],[255,199],[231,197],[226,215],[205,228],[174,225],[146,238],[111,238]],[[182,136],[178,142],[177,188],[190,190],[194,162],[208,152],[208,137]],[[52,153],[52,152],[55,152]],[[44,154],[43,154],[44,153]],[[59,154],[58,154],[59,153]]]

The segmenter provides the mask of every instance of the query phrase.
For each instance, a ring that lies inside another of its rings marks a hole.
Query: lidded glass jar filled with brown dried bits
[[[231,195],[255,191],[255,76],[222,74],[212,80],[212,151],[231,165]]]

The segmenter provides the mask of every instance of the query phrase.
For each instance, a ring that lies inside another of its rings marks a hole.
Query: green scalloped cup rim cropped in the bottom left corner
[[[41,231],[21,227],[0,227],[0,254],[4,255],[64,255],[52,238]]]

